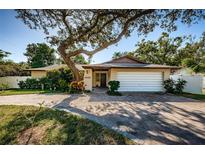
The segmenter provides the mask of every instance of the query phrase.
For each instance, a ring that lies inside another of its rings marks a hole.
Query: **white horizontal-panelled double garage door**
[[[119,91],[163,91],[162,72],[117,72]]]

